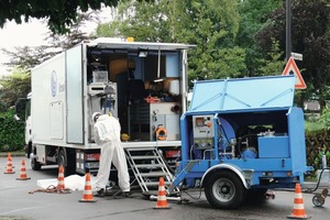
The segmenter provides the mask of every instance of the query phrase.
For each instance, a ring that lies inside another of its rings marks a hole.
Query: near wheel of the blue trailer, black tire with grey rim
[[[240,177],[230,170],[218,170],[205,185],[207,200],[219,209],[234,209],[245,198],[246,189]]]

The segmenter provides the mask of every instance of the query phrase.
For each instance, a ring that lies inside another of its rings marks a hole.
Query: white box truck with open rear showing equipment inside
[[[180,147],[191,47],[102,37],[34,67],[32,92],[25,99],[25,151],[32,168],[58,164],[66,175],[96,173],[100,151],[91,114],[97,111],[119,119],[123,147],[157,146],[173,156]]]

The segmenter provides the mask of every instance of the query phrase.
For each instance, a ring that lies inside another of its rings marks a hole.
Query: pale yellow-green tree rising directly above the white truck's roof
[[[169,6],[182,6],[182,1],[128,1],[121,2],[116,12],[114,20],[100,24],[98,36],[133,36],[135,41],[145,42],[174,42],[170,38],[167,22]],[[173,28],[172,28],[173,29]]]

